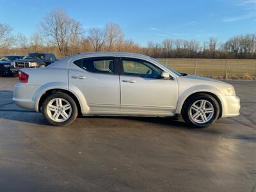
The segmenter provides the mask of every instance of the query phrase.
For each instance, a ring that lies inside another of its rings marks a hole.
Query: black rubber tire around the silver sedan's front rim
[[[192,104],[194,102],[196,102],[196,100],[201,100],[201,99],[211,102],[211,104],[214,108],[214,113],[213,113],[211,120],[209,120],[208,122],[206,122],[204,124],[203,123],[199,124],[199,123],[195,122],[189,115],[189,110],[190,110]],[[182,115],[182,118],[184,119],[184,121],[186,123],[188,123],[189,125],[191,125],[192,127],[207,127],[207,126],[211,125],[212,123],[214,123],[218,119],[218,117],[220,115],[220,106],[218,104],[218,101],[211,95],[209,95],[207,93],[198,93],[198,94],[190,97],[188,100],[186,100],[186,102],[184,103],[184,105],[182,107],[181,115]]]

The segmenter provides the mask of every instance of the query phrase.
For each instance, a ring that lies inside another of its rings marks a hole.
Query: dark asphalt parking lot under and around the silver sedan
[[[83,117],[52,127],[0,78],[0,191],[256,191],[256,81],[229,81],[241,115],[191,129],[169,118]]]

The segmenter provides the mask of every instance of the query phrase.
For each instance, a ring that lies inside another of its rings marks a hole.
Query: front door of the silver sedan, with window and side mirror
[[[120,68],[121,113],[174,114],[178,99],[175,78],[161,79],[161,68],[136,58],[120,58]]]

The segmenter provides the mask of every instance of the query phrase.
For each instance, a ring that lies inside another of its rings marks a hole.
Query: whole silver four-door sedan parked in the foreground
[[[22,69],[14,102],[42,111],[52,125],[82,115],[175,116],[196,127],[239,115],[231,84],[180,74],[154,58],[125,52],[90,52],[45,68]]]

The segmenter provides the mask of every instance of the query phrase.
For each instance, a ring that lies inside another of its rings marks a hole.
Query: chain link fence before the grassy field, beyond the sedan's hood
[[[165,59],[158,58],[163,65],[174,70],[216,79],[256,80],[256,60],[221,59]]]

